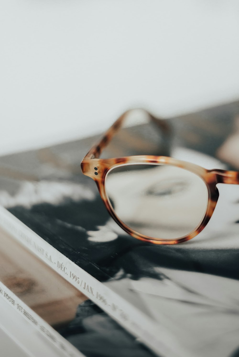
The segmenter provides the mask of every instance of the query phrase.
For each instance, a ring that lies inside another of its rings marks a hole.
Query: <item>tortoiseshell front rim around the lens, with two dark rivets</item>
[[[203,180],[208,191],[207,209],[205,211],[205,215],[202,221],[199,223],[197,227],[195,227],[195,229],[192,232],[190,232],[188,235],[185,235],[183,237],[177,237],[175,239],[173,238],[170,240],[166,240],[163,238],[153,238],[146,235],[142,235],[132,230],[116,215],[115,211],[111,206],[111,203],[108,199],[107,192],[106,192],[105,183],[106,183],[107,174],[113,168],[123,165],[136,165],[136,164],[160,164],[160,165],[179,167],[189,172],[192,172],[193,174],[197,175]],[[85,175],[90,176],[96,182],[98,191],[100,193],[100,196],[102,198],[102,201],[107,211],[110,213],[111,217],[116,221],[116,223],[129,235],[139,240],[151,242],[154,244],[177,244],[179,242],[185,242],[187,240],[190,240],[196,235],[198,235],[198,233],[201,232],[209,222],[218,201],[219,192],[216,185],[219,182],[218,178],[220,177],[221,174],[220,171],[222,170],[207,170],[199,165],[195,165],[186,161],[177,160],[169,156],[139,155],[139,156],[126,156],[126,157],[113,158],[113,159],[84,160],[82,161],[82,171]],[[97,173],[97,175],[95,175],[95,172]]]

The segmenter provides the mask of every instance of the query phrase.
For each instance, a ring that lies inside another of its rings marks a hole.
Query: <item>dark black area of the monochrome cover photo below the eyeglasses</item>
[[[98,231],[99,226],[104,227],[111,219],[98,196],[93,201],[68,199],[57,206],[42,203],[29,209],[16,206],[9,211],[100,281],[116,275],[135,280],[142,277],[161,279],[155,267],[239,278],[239,252],[235,249],[157,246],[127,234],[109,242],[89,240],[89,230]]]

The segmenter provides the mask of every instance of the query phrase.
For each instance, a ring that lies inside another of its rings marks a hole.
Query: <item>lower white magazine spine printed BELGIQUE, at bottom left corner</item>
[[[0,297],[4,299],[15,311],[20,313],[37,331],[67,357],[85,357],[70,342],[65,340],[53,327],[44,321],[36,312],[26,305],[18,296],[0,282]]]

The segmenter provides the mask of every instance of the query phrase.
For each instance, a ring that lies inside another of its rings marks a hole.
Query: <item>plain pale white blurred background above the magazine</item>
[[[0,33],[0,154],[239,98],[238,1],[8,0]]]

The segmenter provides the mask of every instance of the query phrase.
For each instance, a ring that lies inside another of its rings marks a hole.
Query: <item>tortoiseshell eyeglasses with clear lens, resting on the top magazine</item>
[[[121,115],[81,162],[95,180],[116,223],[131,236],[156,244],[176,244],[195,237],[212,217],[217,183],[239,184],[239,172],[206,170],[167,156],[137,155],[99,159],[103,148],[133,110]],[[142,110],[164,135],[166,120]]]

